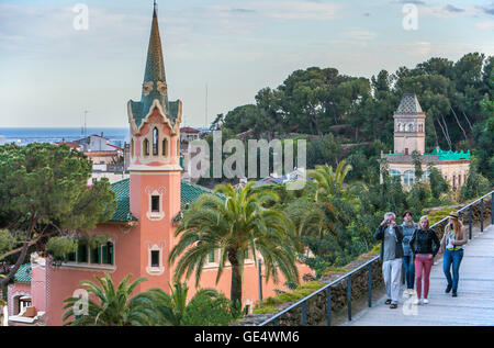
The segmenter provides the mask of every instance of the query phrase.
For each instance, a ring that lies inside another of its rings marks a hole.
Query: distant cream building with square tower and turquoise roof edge
[[[430,175],[428,165],[431,164],[439,169],[453,189],[464,184],[470,170],[470,150],[467,153],[445,151],[438,146],[434,151],[425,153],[426,114],[423,112],[415,93],[403,94],[393,117],[394,153],[381,154],[381,158],[385,158],[388,161],[391,177],[400,177],[404,186],[412,186],[417,181],[412,158],[412,153],[417,150],[422,155],[424,179],[427,179]]]

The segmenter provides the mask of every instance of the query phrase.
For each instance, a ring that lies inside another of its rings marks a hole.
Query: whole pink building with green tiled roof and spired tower
[[[77,252],[59,267],[33,256],[31,263],[18,272],[20,277],[25,276],[22,281],[18,278],[9,287],[11,325],[63,325],[63,301],[80,289],[82,280],[94,281],[94,276],[103,277],[105,272],[114,282],[130,273],[133,279],[147,278],[148,281],[136,288],[136,293],[157,287],[169,291],[173,266],[167,260],[177,243],[173,232],[180,213],[210,191],[180,180],[182,103],[168,100],[156,9],[142,98],[139,102],[131,100],[127,111],[132,135],[130,179],[112,184],[116,194],[115,213],[111,221],[89,233],[106,234],[110,242],[96,249],[80,244]],[[214,288],[229,295],[231,270],[226,269],[220,282],[215,282],[217,259],[218,255],[214,255],[204,266],[200,288]],[[254,258],[245,263],[243,303],[252,307],[259,295],[258,270]],[[310,268],[300,265],[301,278],[306,273],[312,273]],[[284,288],[283,280],[278,284],[265,281],[262,287],[263,296]],[[189,288],[192,296],[197,291],[193,279]],[[31,308],[27,315],[35,317],[26,318],[24,308]]]

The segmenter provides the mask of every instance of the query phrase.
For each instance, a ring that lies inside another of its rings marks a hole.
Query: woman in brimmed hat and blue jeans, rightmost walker
[[[467,244],[467,231],[462,229],[462,223],[459,220],[460,215],[457,212],[449,214],[448,225],[445,227],[445,235],[441,239],[440,251],[445,252],[442,257],[442,271],[445,272],[448,285],[446,293],[452,289],[452,296],[458,294],[458,282],[460,280],[460,263],[463,258],[463,245]],[[446,250],[445,250],[446,249]],[[452,265],[452,279],[451,279]]]

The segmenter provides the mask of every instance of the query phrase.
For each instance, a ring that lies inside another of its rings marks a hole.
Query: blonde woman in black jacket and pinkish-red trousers
[[[429,227],[427,215],[420,217],[418,229],[415,231],[409,245],[415,258],[415,289],[417,299],[414,304],[422,303],[422,283],[424,280],[424,303],[429,303],[429,276],[433,268],[434,257],[439,251],[439,238],[434,229]]]

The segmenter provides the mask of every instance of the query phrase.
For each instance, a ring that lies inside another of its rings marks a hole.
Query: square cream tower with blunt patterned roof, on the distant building
[[[425,119],[415,93],[403,94],[394,113],[394,153],[409,155],[425,151]]]

